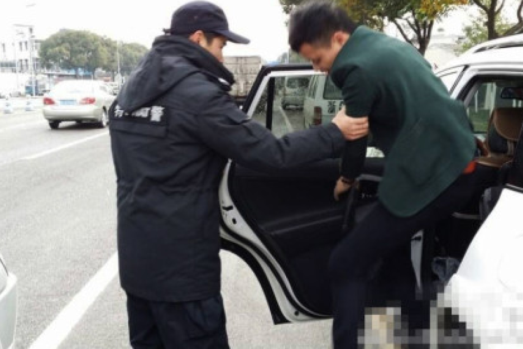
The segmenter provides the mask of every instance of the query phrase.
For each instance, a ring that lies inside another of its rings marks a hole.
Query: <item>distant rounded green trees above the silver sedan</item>
[[[129,74],[147,49],[137,43],[119,46],[120,71]],[[42,41],[40,46],[42,65],[51,68],[85,69],[97,68],[116,72],[116,41],[83,30],[63,29]]]

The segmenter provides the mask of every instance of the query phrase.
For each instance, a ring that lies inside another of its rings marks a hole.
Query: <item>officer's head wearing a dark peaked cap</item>
[[[223,47],[227,41],[249,43],[247,38],[229,30],[223,10],[206,1],[194,1],[179,7],[173,14],[169,35],[183,36],[209,51],[223,62]]]

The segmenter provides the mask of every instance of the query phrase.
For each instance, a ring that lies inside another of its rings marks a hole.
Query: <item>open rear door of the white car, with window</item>
[[[327,83],[313,78],[320,75],[310,65],[264,66],[242,108],[277,137],[331,122],[343,103],[333,99],[332,86],[319,86]],[[367,155],[359,205],[376,196],[383,168],[379,150],[369,147]],[[275,323],[331,317],[327,263],[344,237],[347,201],[334,200],[338,177],[339,159],[277,173],[230,162],[224,171],[222,249],[251,267]]]

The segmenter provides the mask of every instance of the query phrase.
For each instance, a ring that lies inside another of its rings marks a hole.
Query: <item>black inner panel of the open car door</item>
[[[367,166],[371,179],[364,181],[362,204],[376,194],[383,160],[371,159]],[[237,164],[230,172],[237,210],[282,266],[303,305],[320,314],[331,313],[328,257],[345,236],[346,200],[333,198],[338,169],[339,160],[329,159],[276,175]]]

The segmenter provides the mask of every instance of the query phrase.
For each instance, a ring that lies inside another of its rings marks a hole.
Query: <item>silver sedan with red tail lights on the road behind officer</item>
[[[106,127],[107,112],[115,96],[103,81],[66,80],[56,84],[43,98],[43,116],[52,129],[62,121],[96,122]]]

